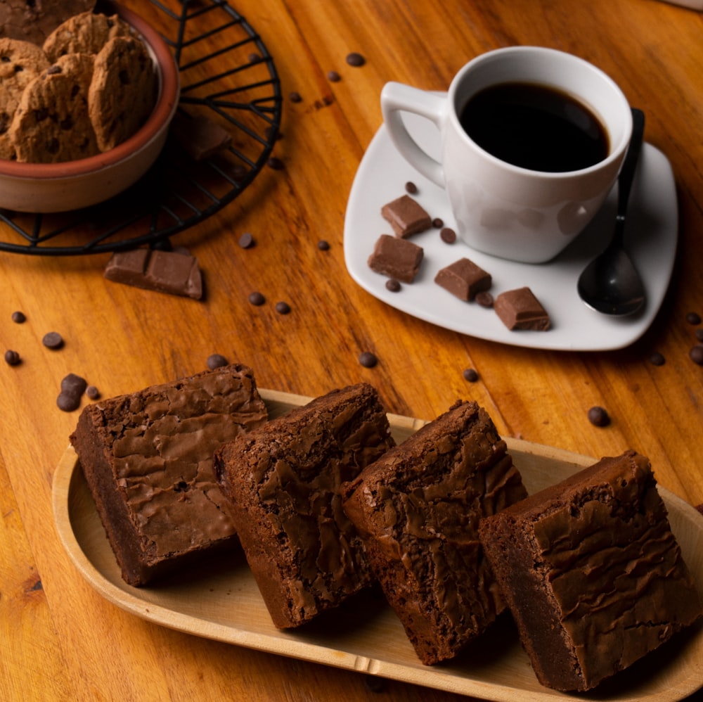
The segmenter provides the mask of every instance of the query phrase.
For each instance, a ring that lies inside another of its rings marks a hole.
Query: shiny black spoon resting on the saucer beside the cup
[[[632,136],[618,176],[615,227],[605,250],[589,263],[576,284],[581,300],[602,314],[622,317],[634,314],[645,304],[645,286],[624,247],[625,216],[632,181],[642,150],[645,115],[632,110]]]

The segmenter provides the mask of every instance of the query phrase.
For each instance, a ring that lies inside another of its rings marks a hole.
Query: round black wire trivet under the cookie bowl
[[[181,78],[181,116],[226,120],[231,146],[195,161],[169,136],[153,167],[104,203],[43,215],[0,210],[5,225],[0,226],[0,250],[79,255],[168,246],[170,236],[231,203],[262,170],[280,127],[273,58],[225,0],[171,4],[176,11],[158,0],[134,1],[131,9],[172,47]]]

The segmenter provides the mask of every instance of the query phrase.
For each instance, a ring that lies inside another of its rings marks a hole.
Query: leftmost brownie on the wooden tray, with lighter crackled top
[[[254,374],[241,364],[84,408],[70,440],[129,585],[236,546],[212,457],[266,419]]]

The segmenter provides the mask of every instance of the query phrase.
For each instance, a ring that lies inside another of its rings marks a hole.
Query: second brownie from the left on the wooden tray
[[[334,390],[219,449],[215,470],[279,629],[297,627],[373,583],[339,488],[394,446],[366,383]]]

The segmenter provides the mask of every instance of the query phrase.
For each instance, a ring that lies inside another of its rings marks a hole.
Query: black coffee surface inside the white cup
[[[501,83],[479,91],[459,120],[484,151],[534,171],[587,168],[610,148],[605,127],[583,103],[533,83]]]

